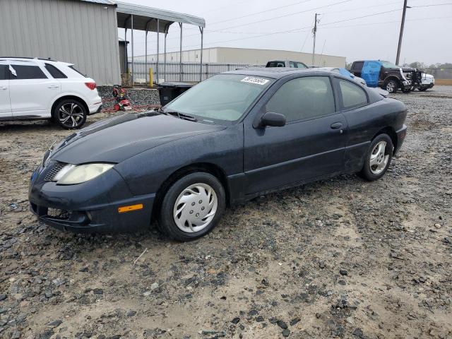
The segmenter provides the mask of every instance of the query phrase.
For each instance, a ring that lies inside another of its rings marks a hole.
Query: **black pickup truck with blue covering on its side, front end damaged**
[[[389,93],[396,93],[399,89],[408,93],[419,87],[422,77],[422,71],[381,60],[355,61],[350,72],[363,78],[367,86],[378,86]]]

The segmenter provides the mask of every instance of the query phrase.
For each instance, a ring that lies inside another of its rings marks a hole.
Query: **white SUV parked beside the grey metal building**
[[[52,119],[79,129],[101,107],[95,81],[73,64],[0,57],[0,121]]]

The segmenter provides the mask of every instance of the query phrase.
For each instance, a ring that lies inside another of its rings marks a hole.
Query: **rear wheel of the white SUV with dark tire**
[[[80,101],[66,99],[55,106],[52,119],[64,129],[80,129],[87,115],[88,111]]]

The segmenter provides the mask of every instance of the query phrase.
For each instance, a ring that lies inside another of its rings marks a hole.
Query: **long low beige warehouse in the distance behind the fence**
[[[179,52],[167,53],[168,62],[179,62]],[[130,57],[130,56],[129,56]],[[160,60],[163,59],[160,54]],[[201,57],[200,49],[191,49],[182,51],[182,62],[199,62]],[[148,61],[155,62],[157,54],[148,55]],[[135,61],[144,61],[145,56],[137,56]],[[302,61],[311,66],[312,54],[283,51],[277,49],[251,49],[251,48],[233,48],[233,47],[212,47],[203,49],[203,62],[209,64],[250,64],[265,65],[269,60],[293,60]],[[130,60],[129,60],[130,61]],[[316,54],[314,66],[321,67],[345,67],[345,57],[336,57],[333,55]]]

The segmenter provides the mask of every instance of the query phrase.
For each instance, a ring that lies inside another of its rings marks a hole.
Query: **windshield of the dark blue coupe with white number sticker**
[[[270,83],[261,76],[219,74],[169,102],[163,112],[186,114],[201,121],[235,121]]]

